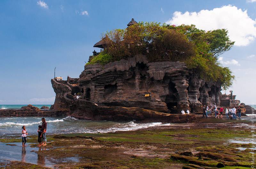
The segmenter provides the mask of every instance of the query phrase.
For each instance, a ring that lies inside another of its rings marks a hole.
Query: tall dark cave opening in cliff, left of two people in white
[[[178,91],[175,88],[175,84],[172,81],[168,85],[169,94],[165,97],[165,103],[170,113],[176,114],[177,112],[177,102],[178,102]]]

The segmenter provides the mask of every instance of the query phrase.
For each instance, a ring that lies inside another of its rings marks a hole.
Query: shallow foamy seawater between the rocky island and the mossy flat
[[[111,121],[84,121],[73,117],[47,117],[47,134],[67,133],[108,133],[116,131],[130,131],[154,126],[171,126],[170,123],[118,123]],[[41,117],[0,117],[0,136],[21,136],[21,127],[26,126],[29,135],[37,134]]]

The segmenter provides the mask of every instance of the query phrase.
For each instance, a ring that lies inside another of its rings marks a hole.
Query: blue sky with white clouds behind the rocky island
[[[256,0],[1,0],[0,104],[53,104],[51,79],[77,78],[102,34],[135,21],[228,29],[219,56],[236,76],[236,99],[256,104]]]

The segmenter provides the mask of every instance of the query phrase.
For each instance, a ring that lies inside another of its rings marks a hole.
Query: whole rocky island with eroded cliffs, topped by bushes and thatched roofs
[[[227,87],[227,84],[230,85],[230,81],[234,77],[226,67],[217,67],[221,72],[210,70],[216,74],[211,75],[212,72],[209,72],[208,75],[209,77],[219,76],[219,78],[225,78],[226,81],[216,77],[204,78],[202,72],[201,74],[199,72],[204,70],[191,68],[188,63],[193,61],[191,58],[209,58],[206,53],[196,53],[198,51],[194,50],[197,44],[192,44],[184,39],[183,34],[178,33],[180,29],[192,30],[193,26],[182,25],[178,28],[170,25],[160,26],[156,23],[143,25],[138,24],[134,19],[127,26],[124,30],[125,33],[114,31],[112,34],[106,34],[94,45],[94,47],[104,50],[100,50],[100,53],[93,51],[93,55],[90,56],[89,62],[84,66],[84,71],[79,78],[68,77],[67,80],[54,78],[51,80],[56,93],[53,110],[66,109],[70,116],[86,120],[182,123],[194,120],[195,113],[202,113],[203,105],[216,103],[217,106],[220,106],[221,88]],[[164,54],[155,52],[155,48],[158,46],[154,43],[159,39],[154,36],[142,37],[142,39],[151,38],[151,41],[138,41],[134,46],[134,41],[137,38],[137,35],[134,35],[134,30],[150,32],[150,29],[153,28],[158,29],[163,36],[171,36],[171,38],[175,36],[180,39],[175,39],[174,42],[167,40],[165,43],[167,49],[159,49],[163,50],[160,53]],[[227,37],[225,30],[220,33]],[[212,34],[217,36],[216,32],[212,32]],[[122,36],[118,38],[123,40],[118,41],[114,35]],[[117,41],[126,48],[121,49],[122,47]],[[169,46],[168,43],[175,44]],[[220,54],[229,50],[232,45],[233,42],[225,39],[225,45],[220,46],[219,51],[212,49],[212,53]],[[114,50],[111,49],[111,46],[115,46]],[[138,49],[138,46],[143,47]],[[117,53],[118,50],[122,53]],[[210,51],[208,52],[210,53]],[[212,60],[215,59],[213,63],[217,62],[216,56],[209,53]],[[122,54],[123,57],[119,57]],[[199,63],[198,67],[202,66],[200,64],[202,63]],[[207,72],[203,72],[203,74],[205,73],[207,74]],[[188,109],[193,114],[182,116],[180,115],[182,109]]]

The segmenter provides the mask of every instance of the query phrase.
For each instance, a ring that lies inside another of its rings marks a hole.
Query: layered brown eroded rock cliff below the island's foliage
[[[52,79],[56,93],[53,109],[69,109],[72,116],[91,120],[144,120],[143,109],[158,115],[162,112],[161,116],[172,121],[165,113],[176,114],[182,109],[201,113],[202,104],[220,104],[221,84],[199,79],[183,62],[148,62],[138,55],[104,66],[86,65],[79,77],[61,82]],[[73,100],[77,91],[81,97]],[[154,117],[146,119],[150,118]],[[162,119],[160,115],[157,118]]]

